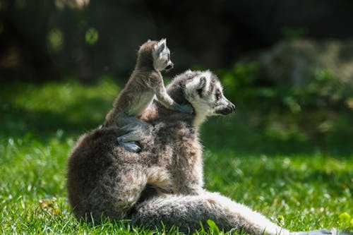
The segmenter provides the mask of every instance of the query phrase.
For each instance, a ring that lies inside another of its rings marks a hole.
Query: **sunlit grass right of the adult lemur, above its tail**
[[[352,157],[207,152],[205,165],[208,189],[222,191],[292,230],[339,227],[338,216],[353,212]]]

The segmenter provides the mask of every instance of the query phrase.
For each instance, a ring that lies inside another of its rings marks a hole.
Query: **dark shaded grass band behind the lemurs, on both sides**
[[[78,137],[97,128],[110,108],[102,99],[90,99],[71,104],[64,112],[31,112],[18,107],[7,107],[1,116],[0,136],[22,138],[33,135],[46,142],[55,138],[58,131],[67,137]],[[205,123],[201,131],[201,142],[212,151],[234,150],[248,155],[297,155],[327,153],[335,157],[353,155],[351,140],[353,133],[334,133],[316,140],[298,140],[269,137],[253,128],[249,122],[236,114],[231,117],[213,118]]]

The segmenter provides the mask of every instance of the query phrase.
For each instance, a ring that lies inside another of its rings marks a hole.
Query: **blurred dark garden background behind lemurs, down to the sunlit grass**
[[[349,0],[0,0],[0,131],[95,128],[140,44],[165,37],[166,78],[210,68],[236,104],[203,128],[206,146],[352,155],[352,12]]]

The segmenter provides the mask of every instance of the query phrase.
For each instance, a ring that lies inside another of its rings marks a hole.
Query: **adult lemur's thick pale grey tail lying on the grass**
[[[202,195],[164,195],[151,198],[136,206],[132,222],[136,225],[150,224],[151,229],[172,226],[186,234],[208,227],[211,219],[220,229],[237,229],[249,234],[282,234],[289,231],[278,227],[249,207],[234,203],[218,193],[205,192]]]

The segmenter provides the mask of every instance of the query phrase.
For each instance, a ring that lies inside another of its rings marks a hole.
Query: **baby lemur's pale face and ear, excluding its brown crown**
[[[153,56],[153,67],[157,71],[168,71],[173,68],[174,64],[170,60],[170,51],[167,47],[167,42],[165,39],[160,40],[158,44],[155,45],[152,52]]]

